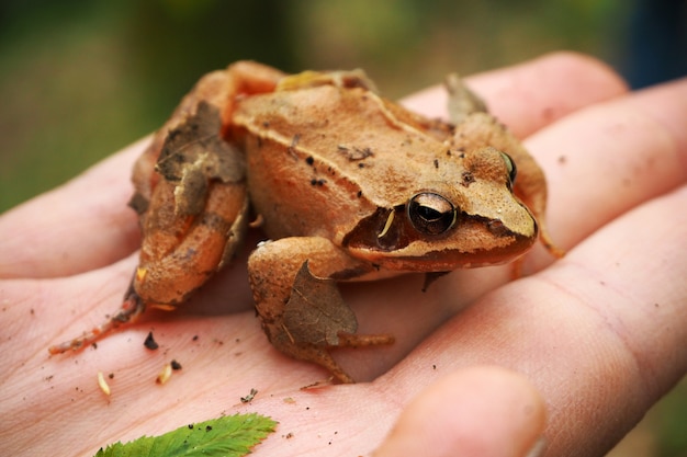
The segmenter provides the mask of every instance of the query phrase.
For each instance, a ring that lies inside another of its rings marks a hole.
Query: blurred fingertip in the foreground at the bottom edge
[[[521,375],[460,370],[431,385],[402,412],[374,457],[531,456],[545,408]]]

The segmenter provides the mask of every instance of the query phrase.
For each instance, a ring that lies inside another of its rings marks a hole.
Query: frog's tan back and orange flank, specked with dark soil
[[[367,90],[333,85],[239,101],[234,124],[268,235],[340,241],[379,207],[407,202],[423,176],[437,179],[444,146],[398,113],[407,112]]]

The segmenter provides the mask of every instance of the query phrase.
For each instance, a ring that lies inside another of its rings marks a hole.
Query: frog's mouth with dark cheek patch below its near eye
[[[450,229],[420,233],[406,217],[406,205],[378,208],[342,240],[351,255],[390,270],[451,271],[508,263],[526,253],[537,240],[537,222],[526,233],[510,230],[503,220],[458,212]]]

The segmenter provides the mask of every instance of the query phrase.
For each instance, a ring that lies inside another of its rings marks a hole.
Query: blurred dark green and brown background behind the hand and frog
[[[685,0],[0,0],[0,213],[161,125],[237,59],[364,68],[390,98],[556,49],[687,75]],[[687,456],[687,386],[615,456]]]

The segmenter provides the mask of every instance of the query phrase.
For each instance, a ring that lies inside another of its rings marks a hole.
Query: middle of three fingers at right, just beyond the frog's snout
[[[548,221],[571,248],[687,179],[687,79],[600,103],[528,138],[547,171]],[[539,267],[551,262],[539,255]]]

